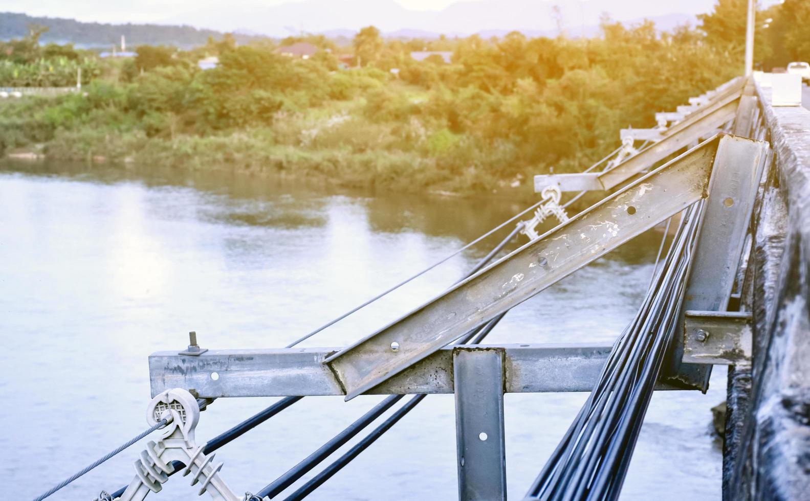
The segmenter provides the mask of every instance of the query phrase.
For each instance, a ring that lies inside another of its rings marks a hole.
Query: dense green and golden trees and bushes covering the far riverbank
[[[103,70],[86,96],[0,104],[0,138],[7,147],[43,144],[57,157],[235,163],[403,189],[528,190],[532,174],[581,170],[618,145],[621,127],[653,125],[655,112],[741,74],[739,26],[716,19],[735,2],[718,2],[699,30],[605,19],[593,39],[513,32],[402,41],[369,27],[343,49],[318,36],[284,40],[322,49],[309,59],[232,39],[193,51],[141,47],[118,71]],[[810,59],[806,40],[784,33],[791,57]],[[763,46],[759,53],[774,57]],[[414,49],[450,50],[452,62],[417,62]],[[343,51],[357,66],[339,70]],[[207,55],[219,66],[198,69]]]

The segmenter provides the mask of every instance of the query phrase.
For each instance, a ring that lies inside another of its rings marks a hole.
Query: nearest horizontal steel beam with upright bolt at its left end
[[[588,343],[503,346],[505,392],[589,392],[611,347]],[[369,393],[453,393],[453,349],[438,350]],[[336,350],[208,350],[195,357],[162,351],[149,357],[151,394],[185,388],[203,398],[345,395],[335,374],[322,363]]]

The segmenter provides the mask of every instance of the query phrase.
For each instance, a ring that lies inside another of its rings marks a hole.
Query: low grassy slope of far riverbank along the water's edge
[[[279,144],[272,129],[245,129],[207,137],[180,134],[148,138],[138,131],[112,133],[60,130],[49,142],[11,151],[17,159],[154,165],[189,170],[232,171],[257,176],[288,176],[344,186],[457,195],[497,194],[534,197],[526,169],[501,179],[488,168],[446,168],[441,159],[415,151],[360,151],[352,146],[304,147]]]

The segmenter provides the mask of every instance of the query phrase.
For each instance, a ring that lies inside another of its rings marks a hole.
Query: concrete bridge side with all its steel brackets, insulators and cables
[[[351,346],[207,350],[192,338],[185,350],[151,355],[147,420],[173,425],[141,453],[130,485],[105,499],[143,499],[179,471],[213,499],[273,497],[414,395],[287,498],[304,499],[430,393],[455,394],[459,499],[505,499],[509,392],[590,392],[526,499],[615,499],[652,392],[705,391],[718,364],[730,366],[723,498],[807,499],[810,91],[780,79],[734,79],[657,114],[654,129],[620,131],[622,146],[601,170],[537,176],[533,217],[466,280]],[[567,214],[588,190],[603,200]],[[570,191],[579,193],[561,203]],[[560,224],[539,234],[548,218]],[[510,308],[675,219],[644,304],[612,346],[480,346]],[[518,232],[531,240],[489,264]],[[212,462],[220,444],[301,397],[360,394],[388,397],[256,495],[235,495]],[[201,408],[255,396],[285,398],[196,444]]]

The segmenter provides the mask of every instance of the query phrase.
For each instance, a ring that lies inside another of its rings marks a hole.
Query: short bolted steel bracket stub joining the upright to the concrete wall
[[[747,312],[687,311],[684,317],[684,363],[750,363],[753,329]]]

